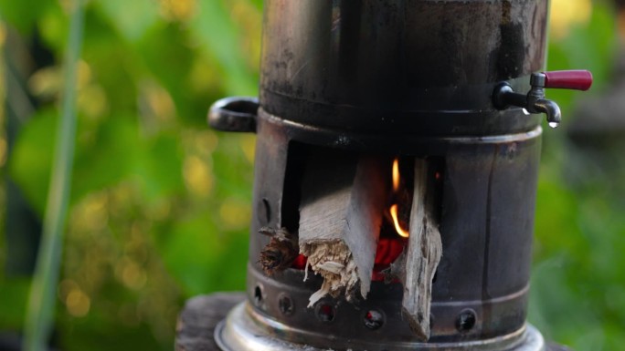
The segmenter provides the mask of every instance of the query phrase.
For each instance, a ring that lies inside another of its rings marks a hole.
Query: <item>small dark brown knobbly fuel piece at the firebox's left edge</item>
[[[297,237],[292,235],[286,228],[272,229],[260,228],[259,232],[270,236],[270,243],[260,252],[260,267],[265,274],[271,276],[291,267],[299,254]]]

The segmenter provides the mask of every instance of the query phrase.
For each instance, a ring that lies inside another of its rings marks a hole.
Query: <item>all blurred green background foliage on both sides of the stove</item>
[[[38,33],[55,57],[28,78],[42,104],[10,155],[5,137],[0,142],[0,174],[16,181],[39,214],[58,119],[65,6],[0,0],[2,46],[10,33],[26,41]],[[58,285],[59,348],[171,349],[186,298],[244,288],[254,137],[207,129],[204,116],[217,98],[258,94],[261,6],[260,0],[88,3]],[[613,10],[589,0],[553,6],[548,68],[589,68],[601,94],[612,75]],[[564,125],[583,103],[574,100],[578,93],[548,94],[561,103]],[[549,339],[578,351],[622,349],[625,189],[609,184],[625,165],[571,177],[563,170],[582,159],[564,130],[548,129],[545,137],[530,319]],[[28,277],[0,273],[1,330],[23,325],[28,286]]]

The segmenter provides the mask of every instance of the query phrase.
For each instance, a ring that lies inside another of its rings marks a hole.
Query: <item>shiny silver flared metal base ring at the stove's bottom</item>
[[[458,343],[417,343],[400,341],[380,341],[379,343],[362,342],[360,340],[340,339],[332,335],[314,335],[308,332],[303,337],[307,344],[286,341],[291,336],[302,337],[302,331],[292,330],[272,319],[254,312],[247,302],[236,305],[215,329],[215,341],[224,351],[280,351],[305,350],[322,351],[354,349],[368,351],[552,351],[557,350],[546,346],[540,332],[532,325],[508,336],[479,341]],[[311,346],[315,344],[320,347]]]

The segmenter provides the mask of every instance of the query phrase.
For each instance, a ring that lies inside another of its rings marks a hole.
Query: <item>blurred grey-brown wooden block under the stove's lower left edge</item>
[[[215,327],[230,309],[245,300],[240,292],[200,295],[189,299],[178,315],[175,351],[219,351]]]

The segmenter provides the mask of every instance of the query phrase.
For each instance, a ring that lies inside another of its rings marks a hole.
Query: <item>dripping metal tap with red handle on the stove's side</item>
[[[556,128],[562,114],[556,102],[545,98],[545,88],[588,90],[592,85],[592,74],[588,70],[566,70],[533,73],[532,87],[527,95],[515,93],[507,82],[497,85],[493,91],[493,105],[497,109],[512,106],[524,108],[529,113],[545,113],[549,127]]]

